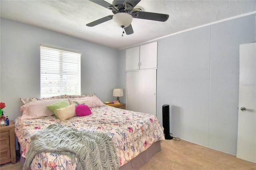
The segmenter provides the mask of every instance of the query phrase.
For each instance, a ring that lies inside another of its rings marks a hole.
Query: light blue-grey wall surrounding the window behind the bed
[[[117,78],[117,49],[4,18],[0,22],[0,99],[10,120],[21,115],[20,98],[40,97],[40,44],[81,52],[81,94],[110,101],[113,88],[125,88]]]

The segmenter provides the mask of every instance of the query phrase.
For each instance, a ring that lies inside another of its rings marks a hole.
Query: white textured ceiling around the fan
[[[112,0],[106,0],[112,3]],[[88,0],[0,0],[2,18],[46,28],[116,49],[148,42],[176,32],[242,14],[255,13],[256,0],[141,0],[146,12],[169,14],[166,22],[134,18],[134,34],[122,37],[113,20],[86,24],[112,15]]]

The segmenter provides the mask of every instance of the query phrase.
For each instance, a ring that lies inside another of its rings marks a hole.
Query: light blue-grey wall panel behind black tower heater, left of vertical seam
[[[170,105],[170,132],[208,144],[210,26],[158,41],[157,116]]]

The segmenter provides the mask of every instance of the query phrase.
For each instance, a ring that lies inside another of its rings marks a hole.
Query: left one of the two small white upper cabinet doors
[[[126,49],[126,70],[140,69],[140,47]]]

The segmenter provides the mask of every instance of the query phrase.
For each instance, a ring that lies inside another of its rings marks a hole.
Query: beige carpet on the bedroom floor
[[[22,170],[20,162],[3,164],[0,170]],[[162,151],[140,170],[256,170],[256,164],[185,140],[165,140]]]

